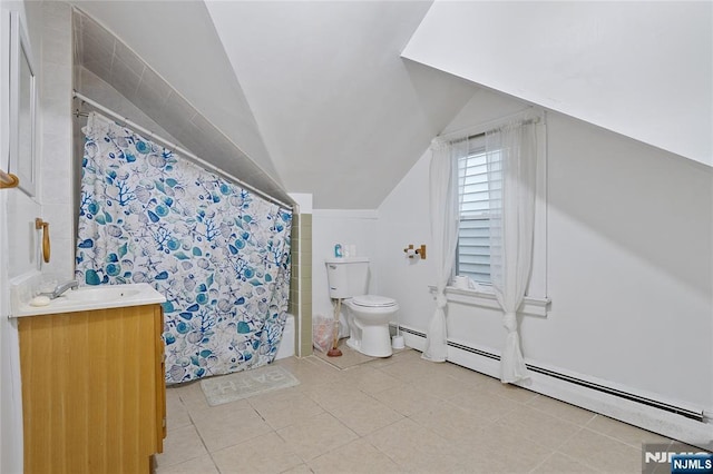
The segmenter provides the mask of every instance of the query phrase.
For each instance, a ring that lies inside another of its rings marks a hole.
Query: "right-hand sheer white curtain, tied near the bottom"
[[[491,208],[490,251],[492,287],[507,329],[500,358],[500,381],[528,378],[517,310],[522,303],[533,267],[535,188],[537,176],[536,125],[525,120],[486,134],[488,180],[500,189],[501,206]]]

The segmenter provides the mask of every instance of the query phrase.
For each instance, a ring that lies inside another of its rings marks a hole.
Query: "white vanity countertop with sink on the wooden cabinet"
[[[166,297],[149,284],[98,285],[70,289],[51,299],[46,306],[31,306],[30,302],[13,305],[10,317],[40,316],[59,313],[88,312],[165,303]]]

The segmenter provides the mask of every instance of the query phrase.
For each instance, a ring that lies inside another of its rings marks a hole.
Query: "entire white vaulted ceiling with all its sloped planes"
[[[377,208],[484,90],[713,164],[710,2],[71,2],[116,39],[118,61],[85,67],[135,81],[123,93],[205,160],[315,208]]]

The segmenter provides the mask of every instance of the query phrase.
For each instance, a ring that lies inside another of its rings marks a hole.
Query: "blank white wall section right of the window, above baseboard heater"
[[[712,168],[558,115],[549,150],[553,327],[530,353],[712,408]]]

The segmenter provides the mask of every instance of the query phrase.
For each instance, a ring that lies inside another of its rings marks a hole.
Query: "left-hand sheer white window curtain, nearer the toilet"
[[[436,260],[436,310],[426,334],[422,358],[445,362],[448,356],[446,328],[446,286],[451,276],[458,244],[458,167],[453,159],[456,147],[467,147],[468,140],[449,144],[440,139],[431,142],[430,215],[431,256]]]

